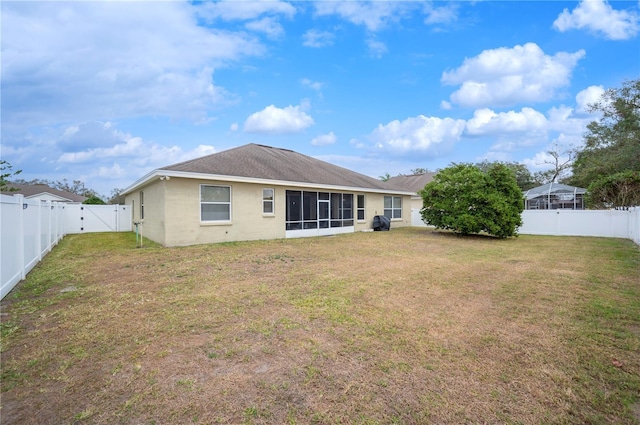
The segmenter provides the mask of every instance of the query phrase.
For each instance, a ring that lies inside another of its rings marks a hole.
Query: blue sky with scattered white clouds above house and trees
[[[634,1],[3,1],[0,156],[107,196],[246,143],[378,177],[579,147]]]

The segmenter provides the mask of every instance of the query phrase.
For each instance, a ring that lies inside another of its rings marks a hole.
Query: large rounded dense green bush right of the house
[[[420,194],[422,219],[439,229],[506,238],[516,236],[522,225],[522,191],[504,164],[495,163],[486,171],[473,164],[453,164]]]

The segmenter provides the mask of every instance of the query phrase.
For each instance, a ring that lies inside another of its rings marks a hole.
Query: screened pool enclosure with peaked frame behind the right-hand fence
[[[560,183],[548,183],[523,192],[525,210],[584,209],[587,189]]]

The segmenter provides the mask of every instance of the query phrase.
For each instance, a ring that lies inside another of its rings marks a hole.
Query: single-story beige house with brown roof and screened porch
[[[164,246],[411,225],[412,192],[288,150],[248,144],[159,168],[124,190],[134,222]]]

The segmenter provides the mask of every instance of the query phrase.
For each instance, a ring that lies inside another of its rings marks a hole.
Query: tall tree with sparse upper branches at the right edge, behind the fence
[[[607,90],[590,111],[602,116],[587,126],[570,184],[589,187],[617,173],[640,171],[640,79]]]

